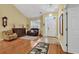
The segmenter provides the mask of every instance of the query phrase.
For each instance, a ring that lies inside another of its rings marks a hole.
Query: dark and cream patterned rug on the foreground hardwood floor
[[[47,54],[49,49],[49,44],[44,42],[39,42],[29,54]]]

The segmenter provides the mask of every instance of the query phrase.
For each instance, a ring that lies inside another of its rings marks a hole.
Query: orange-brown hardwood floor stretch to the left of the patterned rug
[[[16,39],[13,41],[0,41],[1,54],[24,54],[28,53],[31,49],[29,40]]]

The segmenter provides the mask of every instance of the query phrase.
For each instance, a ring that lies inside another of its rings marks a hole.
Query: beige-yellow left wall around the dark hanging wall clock
[[[6,29],[10,29],[15,24],[15,27],[19,27],[22,24],[27,27],[29,24],[29,20],[23,14],[21,14],[13,5],[0,5],[0,33],[4,29],[2,26],[2,17],[8,17],[8,24]],[[29,26],[28,26],[29,27]],[[1,34],[0,34],[1,39]]]

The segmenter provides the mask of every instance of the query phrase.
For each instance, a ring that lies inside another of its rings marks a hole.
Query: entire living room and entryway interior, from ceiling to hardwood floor
[[[0,4],[0,54],[79,53],[79,4]]]

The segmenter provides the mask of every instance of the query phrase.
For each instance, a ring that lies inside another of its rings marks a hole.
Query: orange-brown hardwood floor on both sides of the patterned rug
[[[0,41],[0,54],[27,54],[39,42],[26,39]],[[63,54],[63,50],[59,44],[49,44],[48,54]]]

